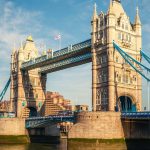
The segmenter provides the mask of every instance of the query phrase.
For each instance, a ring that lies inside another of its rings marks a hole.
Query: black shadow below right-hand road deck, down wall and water
[[[122,127],[128,150],[150,150],[149,120],[122,119]]]

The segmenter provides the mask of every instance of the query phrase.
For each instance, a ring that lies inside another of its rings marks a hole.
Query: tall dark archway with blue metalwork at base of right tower
[[[136,112],[136,104],[130,96],[120,96],[119,108],[121,112]]]

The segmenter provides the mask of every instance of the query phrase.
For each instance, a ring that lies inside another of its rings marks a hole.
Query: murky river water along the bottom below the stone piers
[[[62,140],[60,144],[0,144],[0,150],[150,150],[150,144],[145,146],[142,142],[134,143],[67,143]]]

